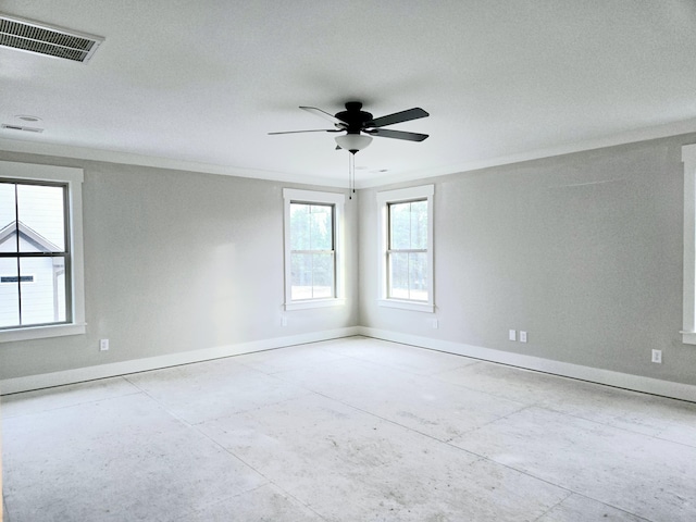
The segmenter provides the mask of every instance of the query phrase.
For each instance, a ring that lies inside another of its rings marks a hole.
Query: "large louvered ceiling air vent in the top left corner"
[[[100,36],[51,27],[0,13],[0,47],[86,62],[102,41],[104,39]]]

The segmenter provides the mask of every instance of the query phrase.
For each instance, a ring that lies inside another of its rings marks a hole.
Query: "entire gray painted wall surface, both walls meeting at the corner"
[[[362,325],[696,384],[696,346],[679,334],[681,146],[694,141],[427,179],[435,314],[376,306],[375,194],[397,186],[360,190],[346,200],[347,307],[289,312],[287,327],[291,184],[0,152],[85,169],[88,322],[85,336],[0,345],[0,378]],[[529,343],[507,340],[510,328]],[[652,348],[663,364],[649,362]]]

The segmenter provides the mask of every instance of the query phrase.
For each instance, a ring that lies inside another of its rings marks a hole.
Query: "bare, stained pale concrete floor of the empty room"
[[[1,411],[5,522],[696,520],[696,405],[374,339]]]

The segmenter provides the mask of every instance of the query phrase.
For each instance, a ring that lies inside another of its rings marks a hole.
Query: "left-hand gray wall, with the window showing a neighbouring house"
[[[313,187],[9,152],[0,159],[84,167],[87,320],[87,335],[0,344],[0,380],[358,322],[355,199],[345,208],[347,304],[287,312],[283,327],[283,188]],[[110,339],[109,351],[99,351],[100,338]]]

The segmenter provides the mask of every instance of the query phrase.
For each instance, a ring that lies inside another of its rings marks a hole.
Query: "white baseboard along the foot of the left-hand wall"
[[[128,373],[146,372],[179,364],[209,361],[223,357],[251,353],[254,351],[271,350],[287,346],[301,345],[304,343],[316,343],[340,337],[359,335],[358,326],[346,328],[327,330],[312,332],[309,334],[293,335],[287,337],[275,337],[271,339],[254,340],[251,343],[240,343],[237,345],[204,348],[201,350],[184,351],[181,353],[170,353],[166,356],[149,357],[146,359],[135,359],[130,361],[113,362],[97,366],[78,368],[62,372],[42,373],[38,375],[27,375],[25,377],[13,377],[0,381],[0,395],[17,394],[33,389],[50,388],[64,384],[83,383],[97,378],[115,377]]]

